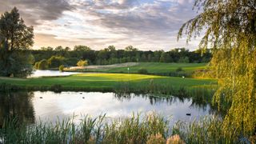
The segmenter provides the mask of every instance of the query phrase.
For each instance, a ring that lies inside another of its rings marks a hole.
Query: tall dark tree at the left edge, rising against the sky
[[[14,7],[0,18],[0,75],[26,77],[32,73],[30,51],[33,27],[26,26]],[[21,51],[22,50],[22,51]]]

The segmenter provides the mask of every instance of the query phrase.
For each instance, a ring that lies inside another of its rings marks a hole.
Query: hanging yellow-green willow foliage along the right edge
[[[194,8],[198,8],[198,16],[181,27],[178,39],[186,34],[189,42],[205,32],[199,46],[213,49],[210,66],[219,79],[214,103],[228,109],[223,134],[254,135],[256,0],[195,0]]]

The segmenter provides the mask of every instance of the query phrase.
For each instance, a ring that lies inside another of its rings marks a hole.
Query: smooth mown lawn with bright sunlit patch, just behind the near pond
[[[114,89],[122,83],[130,86],[145,86],[150,82],[155,85],[168,85],[173,87],[209,86],[216,84],[214,79],[174,78],[145,74],[74,74],[66,77],[43,78],[2,78],[0,84],[6,83],[15,86],[54,86],[91,89]]]

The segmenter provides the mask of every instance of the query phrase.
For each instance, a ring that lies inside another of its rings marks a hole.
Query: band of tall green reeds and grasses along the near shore
[[[230,135],[234,134],[230,131]],[[222,119],[202,118],[194,122],[177,122],[173,127],[158,114],[109,120],[105,115],[82,119],[69,118],[56,123],[18,124],[6,119],[0,129],[2,143],[245,143],[250,138],[222,134]]]

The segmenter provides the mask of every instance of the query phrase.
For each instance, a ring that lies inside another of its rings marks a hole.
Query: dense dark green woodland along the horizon
[[[60,65],[76,66],[79,60],[86,60],[90,65],[109,65],[123,62],[210,62],[212,57],[210,50],[202,53],[202,50],[189,51],[185,48],[177,48],[170,51],[142,51],[127,46],[125,50],[116,50],[114,46],[108,46],[103,50],[92,50],[88,46],[62,46],[42,47],[40,50],[30,50],[34,55],[34,62],[48,62],[50,68]]]

